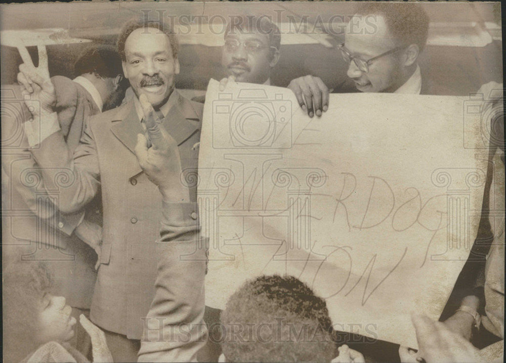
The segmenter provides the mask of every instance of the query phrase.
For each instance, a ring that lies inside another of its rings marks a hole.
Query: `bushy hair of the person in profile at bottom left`
[[[13,262],[3,271],[4,359],[20,361],[38,347],[38,312],[53,286],[48,267],[40,262]]]

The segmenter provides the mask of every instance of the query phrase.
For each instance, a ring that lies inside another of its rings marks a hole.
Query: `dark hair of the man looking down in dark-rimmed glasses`
[[[355,14],[382,16],[399,46],[416,44],[420,53],[425,47],[429,17],[419,4],[367,2],[359,4]]]

